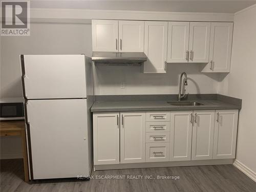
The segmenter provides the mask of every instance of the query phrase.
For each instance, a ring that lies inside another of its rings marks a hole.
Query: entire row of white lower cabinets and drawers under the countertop
[[[237,125],[238,110],[94,113],[94,164],[234,159]]]

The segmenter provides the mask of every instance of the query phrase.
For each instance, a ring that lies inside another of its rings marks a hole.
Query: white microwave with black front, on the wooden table
[[[24,98],[0,99],[0,120],[24,119]]]

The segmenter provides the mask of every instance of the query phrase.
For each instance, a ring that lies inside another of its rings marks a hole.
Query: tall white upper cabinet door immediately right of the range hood
[[[166,73],[167,22],[145,22],[144,73]]]

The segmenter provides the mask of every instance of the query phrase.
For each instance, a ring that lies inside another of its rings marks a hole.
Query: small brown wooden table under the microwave
[[[1,136],[21,136],[22,137],[25,181],[28,182],[29,172],[28,172],[28,156],[27,156],[25,121],[24,120],[1,121],[0,133],[1,133]]]

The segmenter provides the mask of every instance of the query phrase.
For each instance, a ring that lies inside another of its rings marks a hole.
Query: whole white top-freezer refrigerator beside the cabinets
[[[20,55],[30,179],[90,176],[91,58]]]

